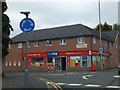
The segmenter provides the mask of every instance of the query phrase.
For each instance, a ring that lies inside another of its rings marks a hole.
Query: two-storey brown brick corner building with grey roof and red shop
[[[82,24],[35,30],[28,33],[28,67],[30,71],[91,70],[101,67],[99,32]],[[120,33],[102,32],[104,69],[120,62]],[[25,33],[12,38],[6,57],[6,71],[23,71],[26,60]]]

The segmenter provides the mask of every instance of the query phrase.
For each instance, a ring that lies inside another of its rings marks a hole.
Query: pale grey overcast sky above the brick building
[[[101,23],[118,23],[118,1],[101,0]],[[14,28],[11,38],[22,33],[19,24],[25,15],[21,11],[30,11],[34,30],[73,24],[95,28],[99,23],[98,0],[7,0],[7,5],[6,14]]]

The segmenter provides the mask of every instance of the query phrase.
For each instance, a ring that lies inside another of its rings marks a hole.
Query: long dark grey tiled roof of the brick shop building
[[[105,35],[106,33],[102,33],[102,38],[108,41],[113,41],[109,38],[109,35]],[[49,29],[40,29],[34,30],[33,32],[28,33],[28,40],[46,40],[46,39],[56,39],[62,37],[76,37],[76,36],[97,36],[99,37],[99,32],[92,28],[89,28],[82,24],[61,26]],[[21,33],[12,38],[13,42],[24,42],[25,41],[25,33]]]

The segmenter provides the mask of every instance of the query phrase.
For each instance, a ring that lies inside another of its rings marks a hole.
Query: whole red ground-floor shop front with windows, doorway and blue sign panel
[[[109,53],[103,56],[103,64],[107,65]],[[25,59],[25,54],[23,54]],[[91,70],[92,65],[100,65],[98,51],[50,51],[28,53],[29,68],[36,67],[42,71],[72,71],[72,70]],[[41,68],[41,69],[40,69]],[[38,71],[39,71],[38,70]]]

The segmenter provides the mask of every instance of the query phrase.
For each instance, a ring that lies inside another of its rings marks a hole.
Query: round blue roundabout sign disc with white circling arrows
[[[20,29],[23,32],[31,32],[35,27],[35,22],[31,18],[24,18],[20,22]]]

